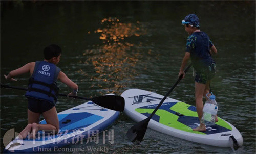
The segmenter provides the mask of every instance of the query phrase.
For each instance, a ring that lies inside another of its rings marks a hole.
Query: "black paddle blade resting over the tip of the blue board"
[[[115,111],[124,110],[124,98],[115,95],[104,95],[92,98],[95,104]]]

